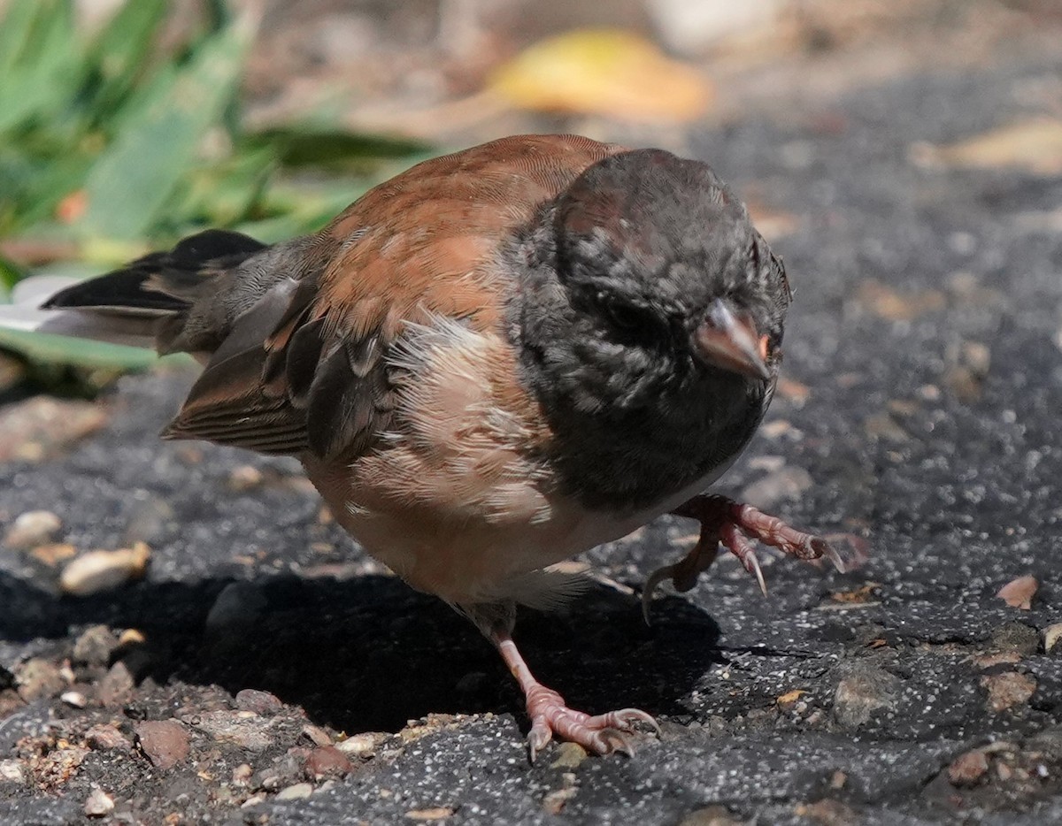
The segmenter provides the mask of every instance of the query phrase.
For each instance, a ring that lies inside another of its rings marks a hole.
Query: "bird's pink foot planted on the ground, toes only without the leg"
[[[556,691],[541,683],[527,695],[531,730],[528,750],[531,760],[555,735],[562,740],[578,743],[590,754],[606,755],[619,752],[634,754],[631,735],[643,728],[660,734],[660,726],[652,717],[637,708],[623,708],[604,715],[587,715],[569,708]]]

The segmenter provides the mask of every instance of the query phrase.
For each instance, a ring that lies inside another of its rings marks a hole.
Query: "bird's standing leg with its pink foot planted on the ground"
[[[592,754],[622,752],[631,755],[634,745],[629,735],[633,734],[639,724],[660,734],[656,721],[645,711],[623,708],[603,715],[587,715],[569,708],[563,696],[535,679],[513,641],[512,627],[516,612],[511,603],[468,605],[462,606],[462,610],[495,644],[509,671],[516,677],[520,690],[524,691],[528,717],[531,718],[528,750],[532,761],[554,735],[563,740],[579,743]]]

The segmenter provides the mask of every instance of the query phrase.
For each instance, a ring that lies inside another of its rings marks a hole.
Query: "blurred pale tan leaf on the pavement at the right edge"
[[[1013,167],[1038,175],[1062,173],[1062,120],[1034,118],[1011,123],[946,147],[917,144],[923,166],[993,169]]]

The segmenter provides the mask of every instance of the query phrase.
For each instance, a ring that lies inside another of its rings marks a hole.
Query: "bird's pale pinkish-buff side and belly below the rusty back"
[[[590,513],[551,491],[549,434],[500,335],[444,316],[391,356],[395,424],[347,467],[305,462],[337,520],[413,587],[456,603],[534,601],[527,574],[655,515]],[[546,580],[544,580],[544,587]]]

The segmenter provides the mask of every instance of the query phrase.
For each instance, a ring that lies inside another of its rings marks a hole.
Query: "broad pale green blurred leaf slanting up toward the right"
[[[205,39],[172,84],[124,124],[85,182],[83,237],[134,239],[148,231],[234,94],[250,35],[237,21]]]

